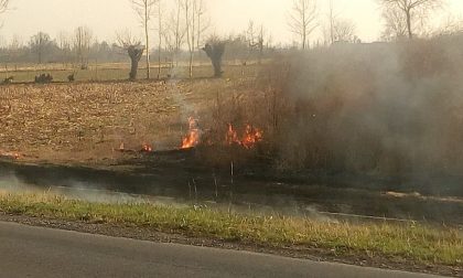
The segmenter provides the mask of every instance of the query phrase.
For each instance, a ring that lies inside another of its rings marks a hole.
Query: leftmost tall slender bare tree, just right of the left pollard
[[[151,21],[151,17],[153,14],[154,6],[157,4],[158,0],[130,0],[133,10],[140,18],[140,22],[144,29],[144,43],[147,47],[147,79],[150,78],[151,68],[150,68],[150,30],[149,24]]]

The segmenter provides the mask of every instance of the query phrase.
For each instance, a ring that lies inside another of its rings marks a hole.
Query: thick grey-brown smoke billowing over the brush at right
[[[411,180],[460,174],[461,45],[451,36],[289,57],[278,96],[280,163]]]

